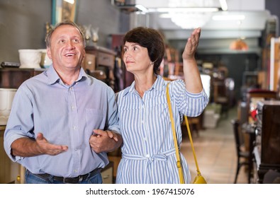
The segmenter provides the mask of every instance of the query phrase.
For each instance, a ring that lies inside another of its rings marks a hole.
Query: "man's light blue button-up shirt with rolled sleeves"
[[[50,66],[18,88],[6,125],[4,148],[12,161],[32,173],[76,177],[108,164],[106,153],[91,150],[93,129],[120,131],[113,90],[88,76],[84,69],[77,81],[67,86]],[[35,139],[39,132],[51,144],[67,145],[68,150],[57,156],[11,155],[13,141],[26,136]]]

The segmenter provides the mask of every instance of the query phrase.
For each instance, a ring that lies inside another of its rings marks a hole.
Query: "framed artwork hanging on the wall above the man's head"
[[[77,0],[52,0],[52,25],[62,21],[75,22]]]

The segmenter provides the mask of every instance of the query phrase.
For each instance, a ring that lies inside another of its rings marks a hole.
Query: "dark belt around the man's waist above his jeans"
[[[77,184],[79,182],[82,182],[82,181],[86,180],[86,178],[92,177],[92,176],[94,176],[96,174],[99,174],[99,173],[101,173],[101,168],[96,168],[96,169],[92,170],[90,173],[86,173],[84,175],[79,175],[77,177],[58,177],[58,176],[50,175],[50,174],[47,174],[47,173],[43,173],[43,174],[32,173],[32,174],[37,175],[38,177],[41,177],[44,180],[48,180],[48,179],[52,178],[53,180],[56,180],[58,182],[64,182],[64,183],[69,183],[69,184]]]

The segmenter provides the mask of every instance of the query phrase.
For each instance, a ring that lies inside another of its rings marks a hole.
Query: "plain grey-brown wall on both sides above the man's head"
[[[129,16],[111,1],[78,0],[76,22],[99,27],[98,45],[108,47],[110,34],[125,33]],[[19,49],[45,48],[45,23],[52,20],[52,0],[0,1],[0,62],[19,62]]]

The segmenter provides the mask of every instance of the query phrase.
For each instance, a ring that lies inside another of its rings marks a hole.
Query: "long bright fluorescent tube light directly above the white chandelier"
[[[160,12],[160,13],[170,13],[170,12],[215,12],[215,11],[219,11],[219,8],[212,8],[212,7],[208,7],[208,8],[200,8],[200,7],[185,7],[185,8],[150,8],[149,12]]]

